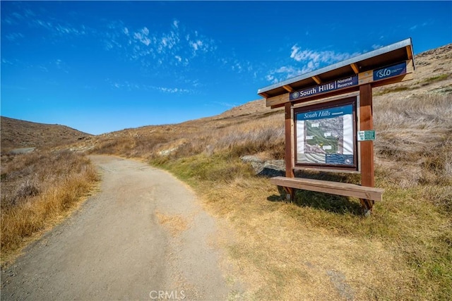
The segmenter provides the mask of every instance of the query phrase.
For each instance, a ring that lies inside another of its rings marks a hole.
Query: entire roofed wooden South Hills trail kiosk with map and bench
[[[285,107],[285,177],[271,178],[292,201],[295,189],[358,197],[366,214],[375,188],[372,88],[412,80],[411,39],[258,90]],[[295,170],[360,173],[361,185],[295,178]]]

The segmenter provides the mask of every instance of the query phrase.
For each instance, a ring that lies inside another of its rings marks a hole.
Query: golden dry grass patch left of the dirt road
[[[88,159],[71,152],[1,157],[1,263],[60,221],[98,180]]]

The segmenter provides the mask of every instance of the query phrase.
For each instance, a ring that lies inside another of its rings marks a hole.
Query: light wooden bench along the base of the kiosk
[[[307,178],[286,178],[275,177],[270,178],[270,183],[281,186],[283,188],[295,188],[302,190],[311,190],[316,192],[325,192],[332,195],[343,195],[345,197],[358,197],[364,209],[372,211],[373,201],[381,201],[383,199],[384,190],[381,188],[371,188],[350,183],[331,182],[326,180],[312,180]],[[293,198],[292,191],[290,193]]]

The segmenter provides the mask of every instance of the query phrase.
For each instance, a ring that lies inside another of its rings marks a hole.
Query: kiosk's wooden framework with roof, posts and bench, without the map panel
[[[374,129],[372,88],[412,80],[414,70],[411,39],[405,39],[258,90],[258,94],[265,97],[267,106],[272,109],[285,107],[285,177],[272,178],[270,182],[281,185],[287,192],[287,198],[291,200],[295,196],[295,189],[358,197],[364,212],[371,213],[374,202],[381,200],[383,190],[374,188],[374,142],[358,142],[357,128],[361,131]],[[346,95],[349,93],[353,95]],[[346,103],[350,97],[355,99],[353,168],[338,168],[328,164],[296,164],[296,114],[312,108],[340,104],[341,100],[338,99],[343,99]],[[354,173],[359,169],[361,185],[295,178],[295,169],[299,168]]]

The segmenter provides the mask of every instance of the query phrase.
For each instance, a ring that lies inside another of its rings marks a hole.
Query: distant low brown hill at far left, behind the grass
[[[65,125],[33,123],[1,116],[1,152],[28,147],[57,147],[78,140],[90,139],[92,135]]]

